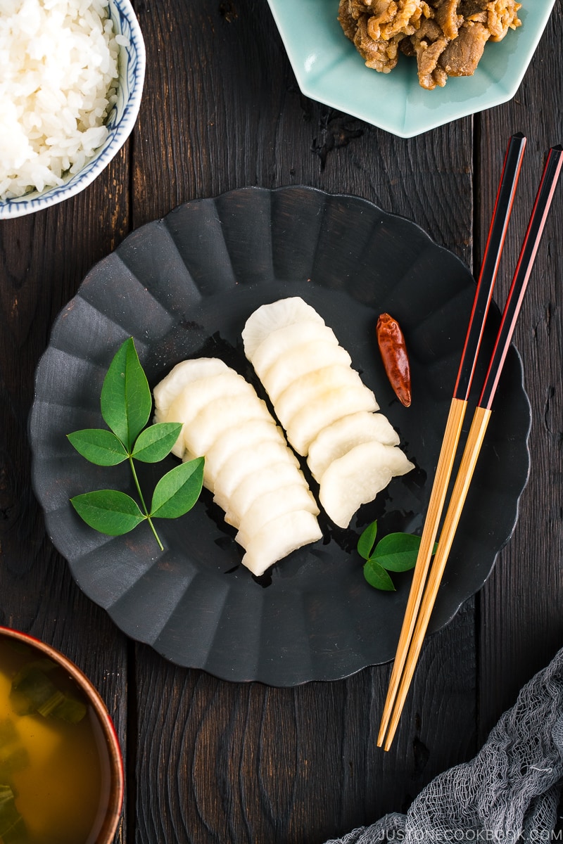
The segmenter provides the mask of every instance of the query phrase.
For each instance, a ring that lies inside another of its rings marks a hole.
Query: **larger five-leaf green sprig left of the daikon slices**
[[[181,431],[181,423],[176,422],[145,427],[152,405],[149,382],[133,338],[129,338],[111,361],[101,390],[101,415],[110,430],[77,430],[68,434],[68,440],[89,463],[97,466],[116,466],[127,460],[141,506],[119,490],[86,492],[70,501],[89,527],[109,536],[122,536],[147,520],[162,550],[153,519],[173,519],[192,509],[202,490],[203,457],[165,473],[154,488],[150,509],[147,508],[134,461],[159,463],[171,452]]]

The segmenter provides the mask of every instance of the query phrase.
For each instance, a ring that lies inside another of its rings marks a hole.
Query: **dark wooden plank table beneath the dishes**
[[[410,140],[301,95],[266,0],[135,6],[148,71],[133,136],[78,197],[0,224],[0,623],[61,649],[103,695],[127,769],[116,841],[321,844],[407,809],[468,760],[563,645],[563,191],[516,333],[533,414],[517,528],[482,591],[425,642],[387,755],[375,732],[389,665],[295,689],[230,684],[129,641],[79,591],[30,488],[35,365],[58,311],[128,232],[235,187],[365,197],[474,267],[507,138],[522,131],[512,267],[545,151],[563,140],[563,3],[511,102]]]

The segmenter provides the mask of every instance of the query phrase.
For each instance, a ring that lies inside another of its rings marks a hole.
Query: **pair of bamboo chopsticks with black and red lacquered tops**
[[[438,533],[441,513],[446,501],[447,488],[452,474],[457,445],[461,435],[463,418],[468,406],[469,390],[473,381],[479,347],[485,330],[485,320],[489,311],[495,279],[501,260],[501,253],[506,238],[508,221],[518,178],[522,167],[522,156],[526,138],[521,133],[513,135],[508,143],[504,165],[496,195],[495,208],[490,223],[489,235],[485,245],[485,255],[479,273],[474,304],[469,319],[468,332],[463,346],[462,358],[453,391],[452,403],[447,417],[446,429],[441,444],[440,456],[436,466],[436,476],[430,492],[430,502],[426,513],[425,525],[420,539],[420,549],[414,567],[413,582],[409,600],[399,636],[397,653],[392,667],[391,679],[387,690],[387,699],[383,709],[382,722],[377,737],[377,746],[388,750],[398,727],[404,701],[414,674],[414,668],[420,655],[422,643],[430,621],[430,614],[436,602],[447,557],[452,548],[457,523],[461,517],[463,504],[473,478],[474,468],[479,457],[485,431],[489,424],[491,405],[496,387],[501,376],[506,353],[512,340],[512,333],[522,306],[524,293],[538,252],[539,241],[544,231],[555,186],[563,165],[563,148],[549,149],[544,165],[544,173],[539,183],[538,193],[533,204],[528,229],[524,237],[517,267],[512,279],[506,305],[501,317],[501,326],[490,358],[490,365],[485,376],[474,418],[463,450],[463,456],[457,472],[452,495],[447,507],[441,529],[436,555],[430,567],[432,551]],[[429,573],[430,572],[430,573]]]

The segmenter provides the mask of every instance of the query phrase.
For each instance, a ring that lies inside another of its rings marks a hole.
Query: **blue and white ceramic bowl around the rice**
[[[129,0],[109,0],[109,12],[116,35],[124,35],[129,46],[120,48],[117,101],[106,122],[110,133],[105,143],[78,173],[68,174],[62,185],[0,200],[0,219],[50,208],[83,191],[106,168],[131,134],[143,95],[146,63],[143,35]]]

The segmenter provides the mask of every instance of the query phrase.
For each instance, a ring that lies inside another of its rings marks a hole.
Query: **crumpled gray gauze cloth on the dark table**
[[[470,762],[430,782],[407,814],[327,844],[563,841],[555,831],[563,777],[563,649],[524,686]]]

